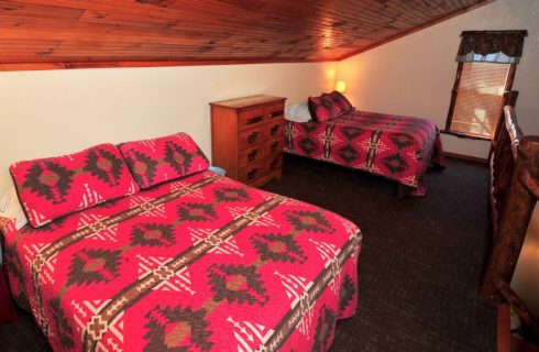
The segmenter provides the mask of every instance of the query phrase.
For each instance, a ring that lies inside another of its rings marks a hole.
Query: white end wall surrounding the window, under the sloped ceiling
[[[363,110],[411,114],[446,127],[462,31],[528,30],[513,89],[517,117],[539,134],[539,1],[497,0],[338,64],[346,96]],[[486,157],[490,144],[442,135],[449,152]]]

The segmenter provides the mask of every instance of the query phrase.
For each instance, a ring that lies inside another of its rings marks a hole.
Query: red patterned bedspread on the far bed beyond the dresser
[[[426,194],[430,163],[444,164],[435,123],[359,110],[322,123],[286,121],[284,151],[395,179],[415,196]]]

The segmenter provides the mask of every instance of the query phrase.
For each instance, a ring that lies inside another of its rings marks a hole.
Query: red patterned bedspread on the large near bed
[[[211,172],[3,227],[13,296],[57,351],[327,351],[356,308],[353,223]]]

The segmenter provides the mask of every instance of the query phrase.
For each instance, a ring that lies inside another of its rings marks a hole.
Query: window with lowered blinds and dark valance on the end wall
[[[492,140],[521,56],[526,31],[463,32],[446,132]]]

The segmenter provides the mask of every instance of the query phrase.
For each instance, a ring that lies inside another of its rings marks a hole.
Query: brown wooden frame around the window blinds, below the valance
[[[507,103],[509,103],[509,105],[515,103],[516,95],[512,94],[512,88],[513,88],[513,81],[515,80],[515,72],[516,72],[517,65],[516,64],[505,64],[505,65],[509,65],[509,70],[507,72],[507,79],[505,81],[504,95],[502,98],[503,102],[502,102],[502,106],[499,107],[498,113],[496,114],[496,121],[494,121],[495,128],[494,128],[494,131],[492,133],[492,136],[483,136],[483,135],[477,135],[477,134],[451,130],[451,124],[453,122],[454,107],[457,103],[457,96],[459,95],[459,87],[460,87],[460,82],[461,82],[462,69],[464,67],[464,64],[465,64],[464,62],[459,62],[459,66],[457,67],[457,76],[454,79],[453,89],[451,90],[451,101],[449,105],[448,118],[446,119],[446,130],[443,131],[443,133],[457,135],[457,136],[463,138],[463,139],[492,141],[494,139],[494,136],[496,135],[496,131],[498,130],[498,124],[501,121],[501,117],[503,113],[504,106]],[[490,64],[499,65],[496,63],[490,63]]]

